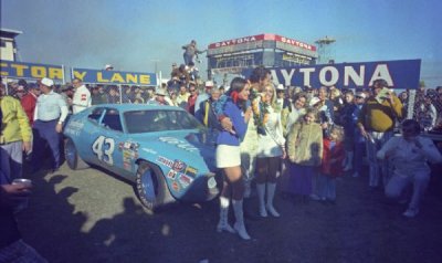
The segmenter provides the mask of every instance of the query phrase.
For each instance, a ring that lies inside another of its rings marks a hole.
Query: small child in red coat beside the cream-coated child
[[[333,126],[330,134],[324,138],[323,162],[318,176],[318,192],[322,201],[336,200],[336,178],[344,175],[343,160],[344,150],[344,129]]]

